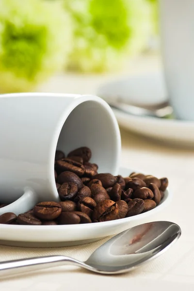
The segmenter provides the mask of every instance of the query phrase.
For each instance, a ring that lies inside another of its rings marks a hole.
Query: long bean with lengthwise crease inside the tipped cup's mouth
[[[85,168],[80,162],[75,162],[70,159],[56,161],[56,167],[62,172],[70,171],[79,177],[83,176],[85,173]]]

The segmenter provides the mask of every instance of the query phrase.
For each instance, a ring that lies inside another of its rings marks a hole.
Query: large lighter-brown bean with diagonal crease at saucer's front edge
[[[92,218],[94,222],[103,222],[118,219],[118,205],[112,200],[101,201],[93,210]]]

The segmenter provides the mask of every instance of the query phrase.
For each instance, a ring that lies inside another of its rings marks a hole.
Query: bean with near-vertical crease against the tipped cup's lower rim
[[[62,201],[73,200],[78,194],[78,186],[75,183],[63,183],[58,193]]]

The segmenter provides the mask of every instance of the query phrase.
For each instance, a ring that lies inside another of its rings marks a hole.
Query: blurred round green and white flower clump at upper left
[[[70,26],[60,2],[0,0],[0,91],[31,90],[62,69]]]

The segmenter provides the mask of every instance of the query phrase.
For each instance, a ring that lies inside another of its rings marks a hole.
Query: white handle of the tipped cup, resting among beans
[[[26,188],[24,194],[13,203],[0,208],[0,215],[14,212],[16,215],[31,210],[38,203],[38,197],[32,189]]]

